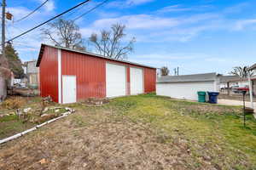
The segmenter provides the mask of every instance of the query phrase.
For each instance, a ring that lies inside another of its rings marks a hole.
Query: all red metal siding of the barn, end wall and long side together
[[[45,46],[43,52],[39,65],[41,96],[50,95],[55,102],[58,102],[58,49]],[[77,100],[90,97],[106,97],[106,62],[126,66],[127,95],[131,94],[131,66],[143,68],[145,93],[155,91],[156,70],[153,68],[61,49],[61,78],[63,75],[77,77]]]

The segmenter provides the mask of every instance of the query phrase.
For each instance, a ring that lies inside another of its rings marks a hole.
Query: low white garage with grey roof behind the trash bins
[[[216,73],[158,77],[156,94],[174,99],[197,100],[197,92],[218,91],[219,78]]]

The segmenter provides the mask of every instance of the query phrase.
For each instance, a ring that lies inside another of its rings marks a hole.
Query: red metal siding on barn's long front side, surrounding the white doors
[[[62,75],[77,76],[77,100],[90,97],[106,97],[106,62],[126,65],[127,95],[130,95],[130,66],[144,68],[145,93],[155,91],[155,69],[126,64],[121,61],[113,61],[111,59],[102,59],[90,56],[89,54],[79,54],[67,50],[61,50]]]

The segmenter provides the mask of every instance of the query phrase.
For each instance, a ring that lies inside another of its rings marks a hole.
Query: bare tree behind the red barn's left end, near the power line
[[[85,50],[84,40],[73,20],[59,19],[48,24],[49,28],[41,29],[42,35],[58,46]]]

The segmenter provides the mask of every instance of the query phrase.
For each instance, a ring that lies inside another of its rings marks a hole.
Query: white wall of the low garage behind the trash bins
[[[171,82],[157,83],[156,94],[175,99],[197,100],[198,91],[215,91],[214,82]]]

